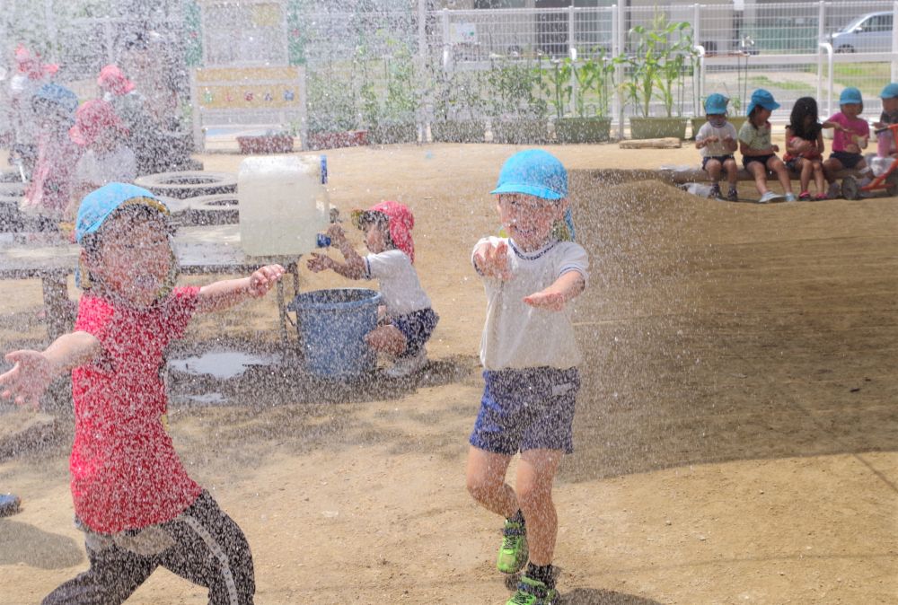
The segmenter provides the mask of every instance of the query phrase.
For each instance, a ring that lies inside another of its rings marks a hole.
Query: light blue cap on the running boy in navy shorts
[[[543,199],[568,197],[568,171],[559,159],[541,149],[512,155],[502,165],[496,189],[490,193],[524,193]]]

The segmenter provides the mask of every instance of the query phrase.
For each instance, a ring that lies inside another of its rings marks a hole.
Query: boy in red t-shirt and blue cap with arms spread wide
[[[168,434],[163,351],[199,311],[265,295],[278,265],[251,276],[174,287],[168,209],[146,189],[110,183],[84,197],[75,237],[84,294],[75,331],[43,351],[6,355],[0,394],[37,406],[71,371],[75,523],[90,569],[43,601],[120,603],[163,566],[205,586],[209,603],[246,605],[255,592],[242,530],[188,477]]]

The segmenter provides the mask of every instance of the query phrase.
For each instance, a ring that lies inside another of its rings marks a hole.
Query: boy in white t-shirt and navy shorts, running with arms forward
[[[529,557],[507,605],[550,605],[558,599],[552,482],[562,454],[573,452],[580,387],[568,302],[583,292],[589,259],[580,245],[552,232],[568,208],[568,173],[553,155],[515,153],[492,193],[508,236],[481,239],[472,255],[486,289],[487,319],[480,340],[485,388],[471,433],[467,487],[506,520],[498,570],[515,574]],[[512,488],[505,476],[517,452]]]

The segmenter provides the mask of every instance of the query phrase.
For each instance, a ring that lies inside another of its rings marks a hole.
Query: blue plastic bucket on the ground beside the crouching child
[[[306,369],[325,378],[352,377],[374,370],[376,354],[365,334],[377,327],[381,294],[367,288],[315,290],[287,305],[296,313]]]

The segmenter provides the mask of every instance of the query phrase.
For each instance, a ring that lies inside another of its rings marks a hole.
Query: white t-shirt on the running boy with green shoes
[[[511,278],[484,277],[487,320],[480,338],[480,363],[485,370],[549,366],[565,370],[580,363],[580,349],[570,322],[571,305],[562,311],[537,309],[524,297],[554,284],[568,271],[588,277],[589,258],[573,241],[551,241],[541,250],[524,252],[509,238],[488,237],[508,245]],[[474,250],[477,250],[477,246]]]

